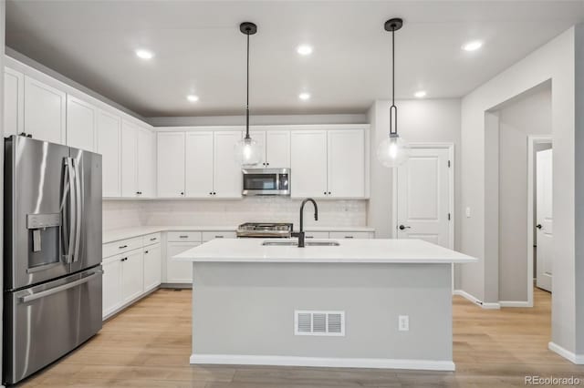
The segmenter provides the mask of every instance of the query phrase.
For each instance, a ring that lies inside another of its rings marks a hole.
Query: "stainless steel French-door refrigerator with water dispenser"
[[[101,329],[101,156],[5,138],[4,376],[16,383]]]

